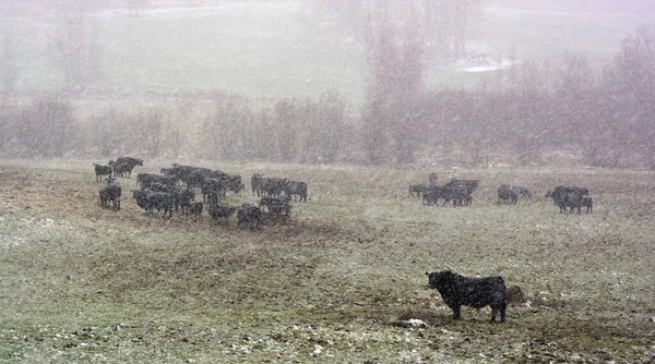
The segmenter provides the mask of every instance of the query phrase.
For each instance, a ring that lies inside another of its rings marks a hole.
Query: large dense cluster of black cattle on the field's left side
[[[121,157],[110,161],[109,166],[94,163],[96,181],[108,175],[108,185],[99,190],[100,206],[120,208],[120,185],[115,177],[129,178],[135,166],[143,166],[143,160]],[[172,168],[160,169],[160,173],[138,173],[135,182],[138,190],[132,190],[132,197],[146,215],[162,213],[162,216],[170,218],[177,213],[196,219],[206,209],[213,220],[227,226],[229,218],[237,213],[238,226],[253,229],[262,223],[288,222],[290,202],[307,201],[306,182],[254,174],[252,191],[261,201],[230,207],[223,199],[228,193],[239,194],[243,190],[239,174],[177,163]],[[195,201],[196,191],[202,201]]]

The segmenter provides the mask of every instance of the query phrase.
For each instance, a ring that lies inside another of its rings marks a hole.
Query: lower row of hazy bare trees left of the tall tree
[[[356,117],[336,92],[318,100],[257,105],[238,95],[178,93],[169,100],[124,100],[91,114],[86,102],[62,95],[0,102],[0,157],[136,155],[303,163],[356,158]]]

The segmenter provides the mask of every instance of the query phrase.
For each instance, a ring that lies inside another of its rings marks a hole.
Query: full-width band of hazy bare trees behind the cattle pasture
[[[271,100],[222,90],[144,93],[90,105],[74,68],[69,88],[28,98],[13,97],[4,74],[0,155],[471,166],[565,160],[655,169],[654,28],[627,35],[602,74],[584,57],[563,54],[558,64],[521,62],[473,89],[428,89],[429,32],[389,22],[388,10],[377,9],[365,24],[370,74],[361,105],[338,89],[318,99]],[[453,50],[457,40],[449,39]]]

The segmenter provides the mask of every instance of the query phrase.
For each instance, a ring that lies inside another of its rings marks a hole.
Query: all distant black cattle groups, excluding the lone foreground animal
[[[120,157],[108,165],[94,163],[96,181],[106,178],[107,185],[99,190],[102,207],[120,209],[121,186],[118,177],[130,178],[136,166],[143,160],[132,157]],[[467,206],[473,202],[473,193],[479,180],[452,179],[444,185],[437,184],[434,173],[430,174],[427,184],[409,185],[410,197],[422,197],[424,205],[441,206],[452,203],[454,207]],[[260,197],[258,203],[248,202],[239,207],[222,204],[228,192],[238,194],[245,189],[239,174],[229,174],[209,168],[172,165],[163,168],[160,173],[138,173],[136,186],[132,197],[146,214],[163,211],[171,217],[174,211],[182,215],[200,217],[203,210],[216,221],[228,223],[229,217],[237,211],[238,226],[255,228],[266,221],[286,222],[291,215],[291,201],[307,202],[307,183],[284,178],[269,178],[253,174],[250,180],[252,195]],[[202,201],[195,201],[195,192],[200,191]],[[498,204],[516,204],[520,197],[531,197],[527,187],[503,184],[498,187]],[[592,213],[592,197],[585,187],[557,186],[546,194],[560,213],[581,214],[582,207]]]

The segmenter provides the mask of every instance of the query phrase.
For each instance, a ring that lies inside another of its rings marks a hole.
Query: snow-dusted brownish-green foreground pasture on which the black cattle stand
[[[91,161],[0,162],[0,362],[655,360],[653,172],[437,171],[481,180],[452,208],[407,197],[428,170],[195,163],[305,180],[310,201],[250,231],[146,217],[134,179],[102,209]],[[502,183],[535,196],[498,206]],[[559,184],[587,186],[594,214],[559,214],[544,197]],[[445,268],[501,275],[529,304],[452,320],[424,275]],[[429,327],[395,325],[409,318]]]

